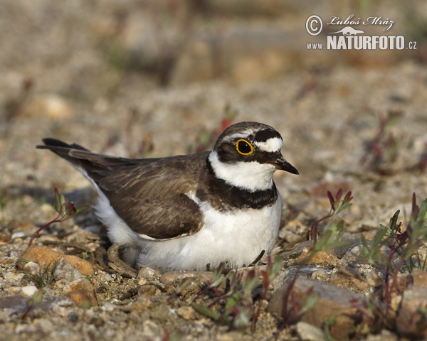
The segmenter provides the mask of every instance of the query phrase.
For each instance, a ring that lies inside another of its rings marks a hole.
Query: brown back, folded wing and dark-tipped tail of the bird
[[[196,191],[208,153],[128,159],[92,153],[78,145],[43,139],[45,146],[83,168],[126,224],[139,234],[165,239],[194,234],[203,224]]]

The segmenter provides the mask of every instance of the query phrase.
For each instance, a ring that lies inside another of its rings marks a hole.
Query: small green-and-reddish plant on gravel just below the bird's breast
[[[282,267],[282,260],[280,256],[276,256],[274,261],[268,257],[268,264],[265,270],[260,271],[260,278],[254,269],[246,274],[242,271],[230,271],[224,275],[224,267],[221,264],[214,271],[212,281],[196,297],[208,296],[212,299],[211,303],[201,305],[193,301],[191,306],[202,315],[221,325],[228,325],[231,329],[245,328],[251,324],[251,330],[255,330],[262,301],[267,296],[270,282]],[[258,296],[254,295],[256,288],[260,288]],[[258,305],[256,301],[259,301]]]

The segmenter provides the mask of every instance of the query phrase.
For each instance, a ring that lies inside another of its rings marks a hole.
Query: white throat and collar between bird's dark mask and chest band
[[[252,193],[257,190],[268,190],[273,186],[275,166],[269,163],[256,161],[223,163],[219,161],[216,151],[209,154],[209,162],[216,177],[225,180],[228,185]]]

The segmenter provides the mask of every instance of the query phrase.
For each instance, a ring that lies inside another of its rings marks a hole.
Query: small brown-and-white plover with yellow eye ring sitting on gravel
[[[94,212],[130,266],[160,271],[238,268],[270,254],[283,201],[276,170],[298,174],[272,126],[228,126],[212,151],[164,158],[121,158],[43,139],[44,148],[92,183]]]

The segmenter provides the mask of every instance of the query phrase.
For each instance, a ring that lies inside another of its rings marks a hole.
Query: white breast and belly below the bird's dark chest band
[[[204,227],[191,236],[167,241],[141,240],[139,266],[164,270],[205,270],[222,261],[228,267],[249,265],[262,250],[272,251],[278,237],[282,200],[261,210],[218,212],[201,204]]]

